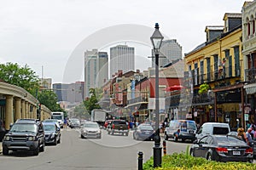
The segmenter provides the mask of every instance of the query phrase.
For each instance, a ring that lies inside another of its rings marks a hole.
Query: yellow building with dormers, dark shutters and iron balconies
[[[224,14],[224,26],[207,26],[207,42],[185,54],[187,87],[193,99],[186,106],[196,122],[243,125],[243,57],[241,14]],[[209,85],[200,93],[202,84]],[[194,114],[193,114],[194,113]]]

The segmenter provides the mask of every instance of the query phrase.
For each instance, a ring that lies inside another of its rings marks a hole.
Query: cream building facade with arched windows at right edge
[[[242,55],[245,69],[245,118],[256,122],[256,1],[246,2],[242,7]]]

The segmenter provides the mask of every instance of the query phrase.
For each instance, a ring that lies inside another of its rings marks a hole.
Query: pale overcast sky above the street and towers
[[[244,3],[241,0],[0,2],[0,63],[27,64],[39,77],[52,78],[54,83],[84,81],[84,51],[91,48],[108,51],[116,43],[134,46],[136,69],[147,69],[149,37],[156,22],[165,39],[177,39],[183,54],[188,53],[206,41],[206,26],[223,26],[224,13],[241,13]]]

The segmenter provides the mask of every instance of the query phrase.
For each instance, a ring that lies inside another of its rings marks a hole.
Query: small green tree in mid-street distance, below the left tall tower
[[[90,88],[89,90],[90,98],[85,99],[84,101],[85,108],[89,113],[94,109],[101,109],[101,106],[98,104],[96,92],[97,90],[95,88]]]

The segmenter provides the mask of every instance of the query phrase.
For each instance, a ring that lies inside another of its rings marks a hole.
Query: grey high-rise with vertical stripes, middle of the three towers
[[[135,70],[134,48],[127,45],[110,48],[110,75],[114,75],[119,70],[124,73]]]

